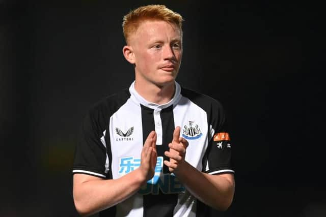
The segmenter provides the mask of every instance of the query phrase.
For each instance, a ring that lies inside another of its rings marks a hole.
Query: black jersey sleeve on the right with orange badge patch
[[[207,164],[204,171],[209,174],[234,173],[231,137],[224,109],[218,101],[212,102],[208,121],[210,137],[208,138]]]

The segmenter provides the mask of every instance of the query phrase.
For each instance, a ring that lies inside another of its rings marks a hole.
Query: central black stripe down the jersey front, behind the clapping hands
[[[148,134],[155,130],[153,109],[142,106],[143,143]],[[157,156],[165,157],[164,152],[169,149],[168,144],[172,141],[174,131],[173,106],[161,111],[162,119],[162,145],[157,145]],[[168,167],[164,166],[164,173],[169,173]],[[177,194],[163,194],[159,190],[158,195],[144,195],[144,216],[173,216],[173,210],[178,201]]]

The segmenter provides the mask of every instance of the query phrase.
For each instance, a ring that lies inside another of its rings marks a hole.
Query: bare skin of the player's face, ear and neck
[[[137,92],[149,102],[169,102],[182,57],[179,27],[165,21],[145,21],[128,42],[123,54],[135,64]]]

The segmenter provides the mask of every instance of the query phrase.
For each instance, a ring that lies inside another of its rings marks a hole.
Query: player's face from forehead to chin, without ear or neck
[[[164,86],[174,81],[182,57],[182,38],[177,25],[145,21],[130,37],[129,44],[137,82]]]

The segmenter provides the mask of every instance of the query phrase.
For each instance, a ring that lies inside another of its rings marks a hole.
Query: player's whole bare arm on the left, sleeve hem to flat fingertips
[[[135,194],[154,175],[156,134],[152,131],[143,146],[141,166],[118,178],[104,180],[85,174],[73,176],[73,199],[79,214],[91,215],[114,206]]]

